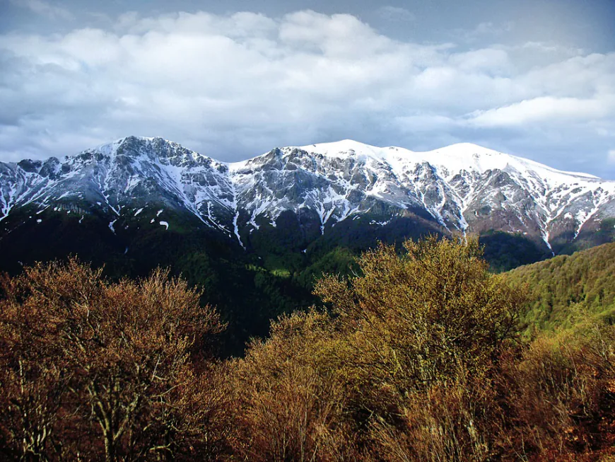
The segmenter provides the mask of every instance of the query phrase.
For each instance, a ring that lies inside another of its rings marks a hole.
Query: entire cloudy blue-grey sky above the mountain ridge
[[[615,0],[0,0],[0,161],[457,142],[615,180]]]

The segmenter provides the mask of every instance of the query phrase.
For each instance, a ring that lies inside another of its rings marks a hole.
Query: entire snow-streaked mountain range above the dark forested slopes
[[[422,216],[450,231],[519,232],[550,247],[615,216],[615,182],[467,143],[414,152],[344,140],[223,163],[127,137],[61,160],[0,163],[0,221],[18,207],[58,203],[110,220],[165,204],[240,243],[242,232],[291,211],[313,214],[321,233],[365,214],[382,217],[377,224]]]

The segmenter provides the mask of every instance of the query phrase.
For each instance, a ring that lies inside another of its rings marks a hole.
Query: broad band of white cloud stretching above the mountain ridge
[[[6,33],[0,159],[128,134],[221,160],[355,138],[411,149],[486,142],[570,170],[583,169],[566,164],[578,159],[570,153],[590,146],[585,169],[595,173],[615,132],[615,53],[519,50],[400,42],[314,11],[126,13],[109,30]],[[561,149],[568,157],[555,163],[541,157]]]

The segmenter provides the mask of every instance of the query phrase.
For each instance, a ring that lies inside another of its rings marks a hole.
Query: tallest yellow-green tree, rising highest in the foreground
[[[381,245],[352,279],[315,292],[332,308],[336,371],[376,460],[482,461],[500,410],[493,367],[525,296],[488,271],[478,240]]]

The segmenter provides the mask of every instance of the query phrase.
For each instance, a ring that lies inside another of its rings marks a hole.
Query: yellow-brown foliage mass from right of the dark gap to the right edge
[[[613,444],[615,328],[525,346],[525,296],[476,241],[381,246],[332,314],[281,318],[233,365],[235,455],[275,461],[598,461]],[[582,340],[579,340],[582,339]],[[611,387],[611,388],[609,388]]]

